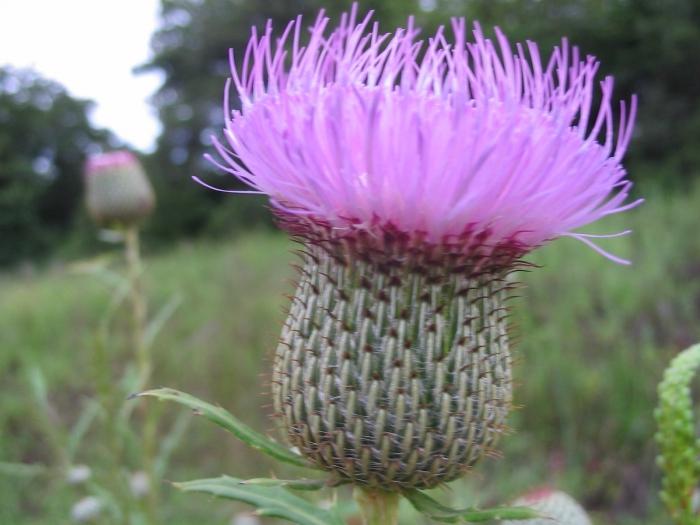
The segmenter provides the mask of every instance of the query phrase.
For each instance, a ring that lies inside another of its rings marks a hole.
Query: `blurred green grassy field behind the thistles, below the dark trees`
[[[554,484],[581,499],[599,523],[668,523],[657,498],[652,412],[668,361],[700,340],[700,188],[647,197],[639,209],[587,229],[632,227],[629,237],[603,241],[631,258],[631,267],[572,239],[531,257],[542,268],[521,274],[526,286],[512,303],[520,340],[515,432],[502,442],[504,459],[482,462],[443,497],[504,502]],[[292,248],[281,234],[255,233],[148,258],[151,305],[173,294],[184,299],[157,340],[152,386],[188,391],[272,431],[266,373],[283,294],[292,291]],[[0,276],[0,462],[51,459],[27,371],[41,367],[56,424],[70,426],[94,391],[94,327],[109,294],[75,266]],[[116,319],[115,332],[125,323]],[[125,340],[114,343],[117,373],[127,348]],[[172,421],[178,410],[163,412]],[[88,439],[81,462],[98,461],[100,446]],[[260,455],[199,420],[172,463],[167,477],[175,480],[271,471]],[[228,503],[165,491],[169,524],[223,524],[231,516]],[[41,475],[20,480],[0,472],[0,523],[64,523],[81,494]]]

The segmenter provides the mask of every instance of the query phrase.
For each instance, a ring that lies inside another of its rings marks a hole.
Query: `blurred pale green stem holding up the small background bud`
[[[136,366],[139,380],[137,390],[143,390],[151,378],[153,370],[151,348],[146,343],[144,334],[146,328],[146,299],[143,291],[141,275],[143,267],[141,263],[141,250],[139,243],[139,230],[137,226],[130,226],[124,233],[127,271],[129,277],[129,290],[131,300],[131,340],[136,356]],[[146,513],[151,525],[160,523],[158,509],[160,506],[160,482],[155,472],[156,456],[156,430],[157,414],[153,410],[144,412],[142,441],[143,441],[143,465],[148,476],[148,496],[146,499]]]

